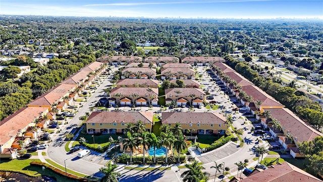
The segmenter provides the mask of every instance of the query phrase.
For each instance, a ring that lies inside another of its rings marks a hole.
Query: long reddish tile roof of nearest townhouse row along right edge
[[[299,117],[297,117],[292,111],[286,108],[281,109],[264,109],[270,111],[272,117],[277,119],[283,128],[286,128],[294,138],[297,138],[297,142],[312,141],[316,136],[322,136],[323,134],[316,131]]]

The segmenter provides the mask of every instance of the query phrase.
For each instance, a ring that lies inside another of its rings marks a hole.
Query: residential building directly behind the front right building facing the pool
[[[176,103],[178,106],[197,106],[205,100],[205,93],[200,88],[168,88],[165,95],[166,104]]]

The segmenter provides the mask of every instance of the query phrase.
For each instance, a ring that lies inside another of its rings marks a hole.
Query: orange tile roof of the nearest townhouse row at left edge
[[[11,136],[15,136],[45,111],[48,111],[47,107],[24,107],[4,119],[0,123],[0,145],[8,142]]]

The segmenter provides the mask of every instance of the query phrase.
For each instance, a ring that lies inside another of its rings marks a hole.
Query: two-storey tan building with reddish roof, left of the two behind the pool
[[[85,122],[87,133],[125,133],[127,123],[141,120],[151,132],[152,112],[92,112]]]

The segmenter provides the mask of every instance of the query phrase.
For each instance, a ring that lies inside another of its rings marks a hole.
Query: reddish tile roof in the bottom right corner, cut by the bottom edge
[[[322,182],[311,174],[285,162],[277,164],[266,170],[250,175],[240,182]]]

